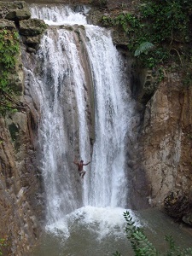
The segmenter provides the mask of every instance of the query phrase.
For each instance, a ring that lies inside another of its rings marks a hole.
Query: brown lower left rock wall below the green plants
[[[23,255],[39,236],[39,181],[26,113],[0,120],[0,236],[6,238],[4,255]]]

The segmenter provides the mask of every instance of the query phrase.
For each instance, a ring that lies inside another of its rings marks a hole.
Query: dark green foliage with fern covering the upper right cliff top
[[[172,61],[185,71],[186,63],[189,67],[192,60],[191,0],[142,0],[137,13],[123,11],[115,18],[104,15],[102,22],[123,29],[129,39],[128,49],[143,67],[169,65]]]

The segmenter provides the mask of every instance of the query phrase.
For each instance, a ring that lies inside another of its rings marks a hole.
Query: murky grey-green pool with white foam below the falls
[[[125,236],[122,208],[82,207],[57,223],[48,225],[38,247],[27,256],[109,256],[116,251],[134,255]],[[137,225],[154,246],[165,253],[166,235],[172,235],[179,247],[191,247],[192,230],[157,209],[131,212]]]

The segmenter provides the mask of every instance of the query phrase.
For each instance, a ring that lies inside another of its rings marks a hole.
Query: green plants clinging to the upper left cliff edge
[[[15,73],[16,57],[19,54],[18,32],[6,29],[0,30],[0,113],[8,110],[16,111],[19,103],[16,102]],[[11,86],[12,84],[12,86]]]

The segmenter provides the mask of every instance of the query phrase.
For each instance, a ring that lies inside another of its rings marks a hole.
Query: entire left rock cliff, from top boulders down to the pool
[[[32,23],[30,16],[25,2],[1,2],[0,30],[19,30],[23,39],[26,39],[32,37],[32,32],[40,27],[40,35],[44,30],[44,22],[39,20],[36,28],[32,30],[31,26],[31,33],[24,38],[22,23],[24,20]],[[27,49],[28,45],[25,46],[20,41],[20,48]],[[0,117],[0,237],[5,238],[7,244],[3,247],[3,255],[20,256],[37,242],[40,233],[39,220],[44,212],[43,202],[39,199],[42,183],[32,142],[32,113],[23,97],[24,71],[21,50],[9,85],[17,92],[18,96],[12,100],[20,108],[16,113],[6,113]]]

